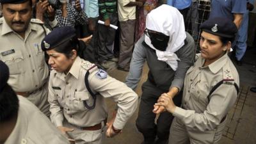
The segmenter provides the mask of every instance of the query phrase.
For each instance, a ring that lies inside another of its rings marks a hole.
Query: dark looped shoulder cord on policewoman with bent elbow
[[[94,67],[96,67],[96,66],[94,66]],[[93,68],[93,67],[92,67],[92,68]],[[90,69],[92,69],[92,68],[90,68]],[[86,74],[85,74],[85,76],[84,76],[84,83],[85,83],[85,86],[86,86],[88,92],[90,93],[90,95],[92,95],[93,104],[92,104],[92,106],[89,106],[89,105],[87,104],[86,100],[84,100],[83,103],[84,103],[84,106],[85,106],[87,109],[94,109],[95,106],[96,106],[96,99],[97,99],[96,94],[97,94],[97,93],[93,93],[93,92],[92,92],[92,89],[90,88],[90,85],[89,85],[88,77],[89,77],[89,74],[90,74],[90,72],[89,72],[90,69],[87,70],[87,72],[86,72]]]

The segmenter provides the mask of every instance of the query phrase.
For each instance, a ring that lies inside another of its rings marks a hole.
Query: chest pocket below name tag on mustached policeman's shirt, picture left
[[[20,51],[15,51],[12,54],[8,54],[3,56],[1,55],[1,60],[6,63],[9,67],[10,75],[12,74],[20,74],[24,72],[22,68],[22,63],[24,63],[24,58],[22,56],[22,53]]]

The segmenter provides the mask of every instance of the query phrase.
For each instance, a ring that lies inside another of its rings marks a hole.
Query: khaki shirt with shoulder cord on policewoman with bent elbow
[[[99,92],[94,109],[84,107],[83,100],[92,106],[93,99],[84,83],[84,76],[93,64],[77,57],[67,75],[52,70],[49,79],[48,101],[51,105],[51,120],[58,127],[64,118],[77,127],[89,127],[99,124],[107,118],[104,98],[111,97],[118,105],[114,122],[116,129],[122,129],[136,110],[138,95],[124,83],[110,76],[99,77],[97,67],[90,70],[88,81],[92,91]]]

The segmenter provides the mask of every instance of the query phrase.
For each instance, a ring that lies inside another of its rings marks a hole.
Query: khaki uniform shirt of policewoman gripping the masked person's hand
[[[234,83],[239,86],[239,75],[227,54],[207,67],[202,67],[205,60],[200,55],[198,57],[185,77],[182,97],[184,109],[177,107],[173,115],[188,127],[208,131],[220,124],[236,102]],[[225,82],[211,94],[209,101],[207,95],[222,80]]]

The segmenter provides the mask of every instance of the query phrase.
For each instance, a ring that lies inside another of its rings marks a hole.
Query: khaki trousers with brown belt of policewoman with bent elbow
[[[76,127],[75,125],[71,125],[64,120],[63,126],[72,128],[74,131],[67,132],[70,138],[76,140],[76,144],[102,144],[104,132],[105,132],[105,125],[104,122],[101,123],[103,126],[101,129],[96,131],[86,131]]]

